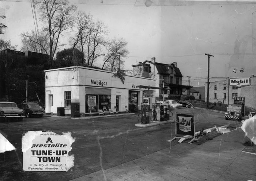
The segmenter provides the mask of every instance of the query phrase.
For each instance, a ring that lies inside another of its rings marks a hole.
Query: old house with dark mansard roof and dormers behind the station
[[[189,89],[191,86],[182,85],[182,74],[177,67],[177,62],[165,64],[158,63],[155,58],[151,61],[139,62],[137,65],[132,65],[133,76],[146,77],[155,80],[155,86],[160,88],[170,88],[172,90],[156,89],[155,96],[162,95],[182,95],[182,89]]]

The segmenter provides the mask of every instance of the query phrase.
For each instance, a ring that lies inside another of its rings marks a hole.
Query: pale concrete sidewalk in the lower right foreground
[[[202,145],[178,143],[139,159],[72,181],[256,181],[256,155],[243,152],[238,128]],[[166,142],[166,145],[171,142]]]

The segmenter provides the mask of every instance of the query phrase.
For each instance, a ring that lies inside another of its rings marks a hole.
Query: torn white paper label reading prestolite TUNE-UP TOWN
[[[71,132],[28,131],[22,137],[23,170],[65,171],[74,166]]]

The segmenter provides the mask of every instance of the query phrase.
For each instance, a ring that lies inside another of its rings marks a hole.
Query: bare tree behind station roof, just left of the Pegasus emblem
[[[106,69],[113,71],[117,69],[120,65],[124,65],[124,61],[121,60],[121,57],[127,57],[129,50],[126,48],[127,42],[123,38],[116,39],[114,38],[109,45],[108,54],[105,55],[104,66]]]

